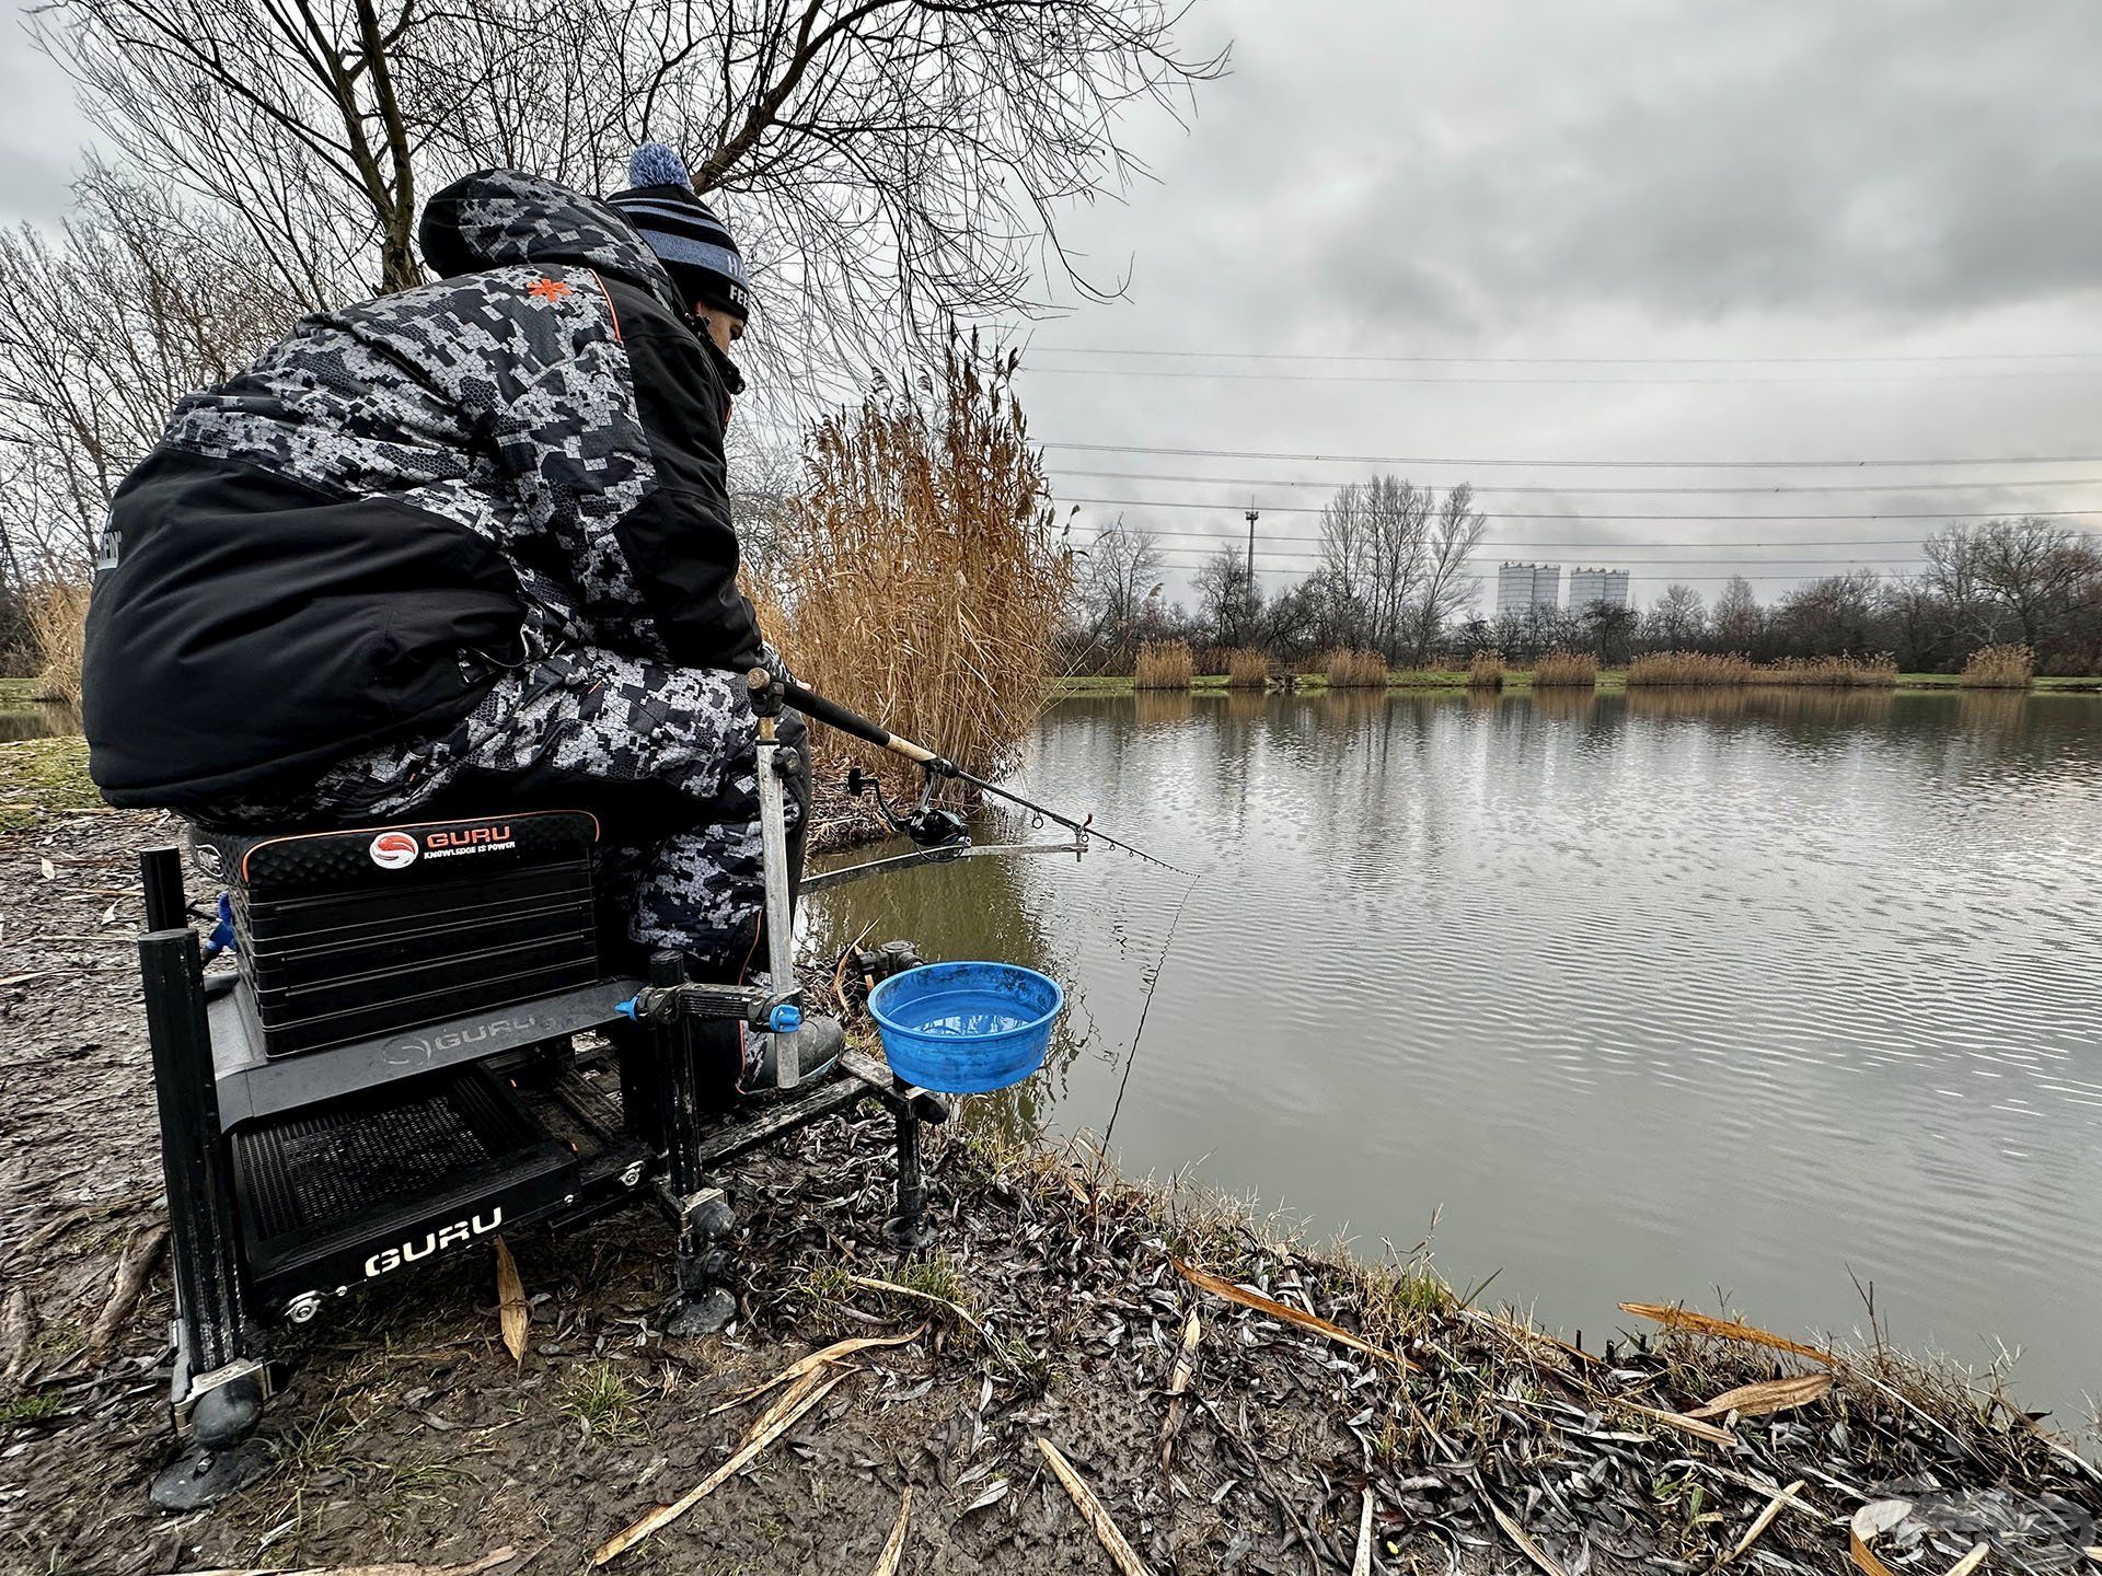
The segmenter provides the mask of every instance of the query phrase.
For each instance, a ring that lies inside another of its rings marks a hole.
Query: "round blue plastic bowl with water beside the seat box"
[[[925,962],[868,994],[883,1055],[908,1084],[984,1095],[1045,1063],[1066,992],[1011,962]]]

